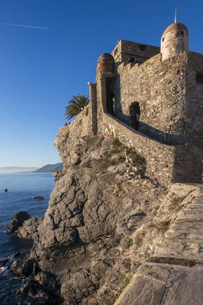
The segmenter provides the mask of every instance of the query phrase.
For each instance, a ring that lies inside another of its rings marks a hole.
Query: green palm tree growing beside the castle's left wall
[[[73,100],[69,101],[69,105],[65,107],[65,114],[67,119],[71,119],[78,113],[80,113],[84,107],[89,103],[89,97],[84,94],[78,94],[78,96],[72,96]]]

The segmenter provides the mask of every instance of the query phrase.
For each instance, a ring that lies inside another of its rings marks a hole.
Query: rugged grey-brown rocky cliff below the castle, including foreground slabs
[[[63,170],[45,217],[15,232],[34,240],[12,266],[32,278],[18,293],[64,305],[202,304],[202,187],[167,190],[117,138],[54,145]]]

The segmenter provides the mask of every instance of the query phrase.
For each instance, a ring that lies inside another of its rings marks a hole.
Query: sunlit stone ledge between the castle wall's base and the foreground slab
[[[188,196],[186,196],[187,193],[189,193]],[[195,189],[188,185],[187,193],[184,188],[184,195],[181,195],[181,190],[179,191],[179,197],[176,194],[173,196],[167,195],[168,200],[171,201],[171,206],[169,206],[171,210],[177,209],[178,211],[180,209],[180,212],[162,240],[157,243],[154,256],[203,260],[203,250],[201,250],[203,249],[203,189]],[[176,198],[181,198],[182,203],[178,204]],[[182,206],[184,206],[183,209],[181,209]]]

